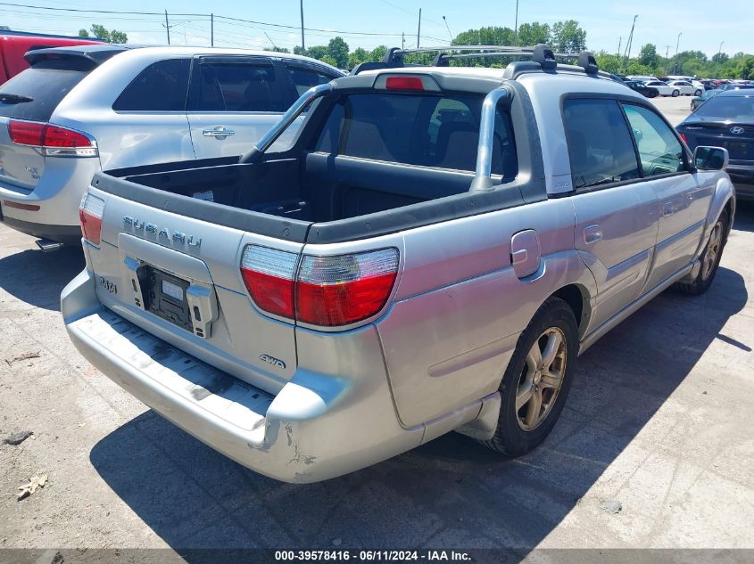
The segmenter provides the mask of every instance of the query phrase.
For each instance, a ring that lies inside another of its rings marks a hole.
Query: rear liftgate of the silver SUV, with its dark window
[[[21,129],[14,143],[8,122],[47,122],[90,69],[75,60],[40,61],[0,86],[0,183],[32,190],[45,172],[42,151],[23,143]]]

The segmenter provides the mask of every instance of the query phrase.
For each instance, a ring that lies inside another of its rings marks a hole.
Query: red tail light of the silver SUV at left
[[[11,119],[11,141],[40,148],[48,157],[96,157],[96,143],[87,135],[66,127]]]

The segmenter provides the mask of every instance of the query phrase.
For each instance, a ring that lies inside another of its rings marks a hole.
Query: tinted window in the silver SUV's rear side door
[[[285,111],[272,65],[200,64],[193,111]]]

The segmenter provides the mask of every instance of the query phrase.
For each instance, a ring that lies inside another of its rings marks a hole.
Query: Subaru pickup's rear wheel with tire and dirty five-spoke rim
[[[563,411],[577,355],[573,310],[560,298],[547,298],[518,337],[502,377],[497,429],[491,439],[480,442],[509,456],[539,445]]]

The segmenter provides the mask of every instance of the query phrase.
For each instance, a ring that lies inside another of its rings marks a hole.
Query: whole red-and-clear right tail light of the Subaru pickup
[[[376,315],[398,273],[398,249],[313,257],[249,245],[241,274],[260,309],[302,323],[335,327]]]

